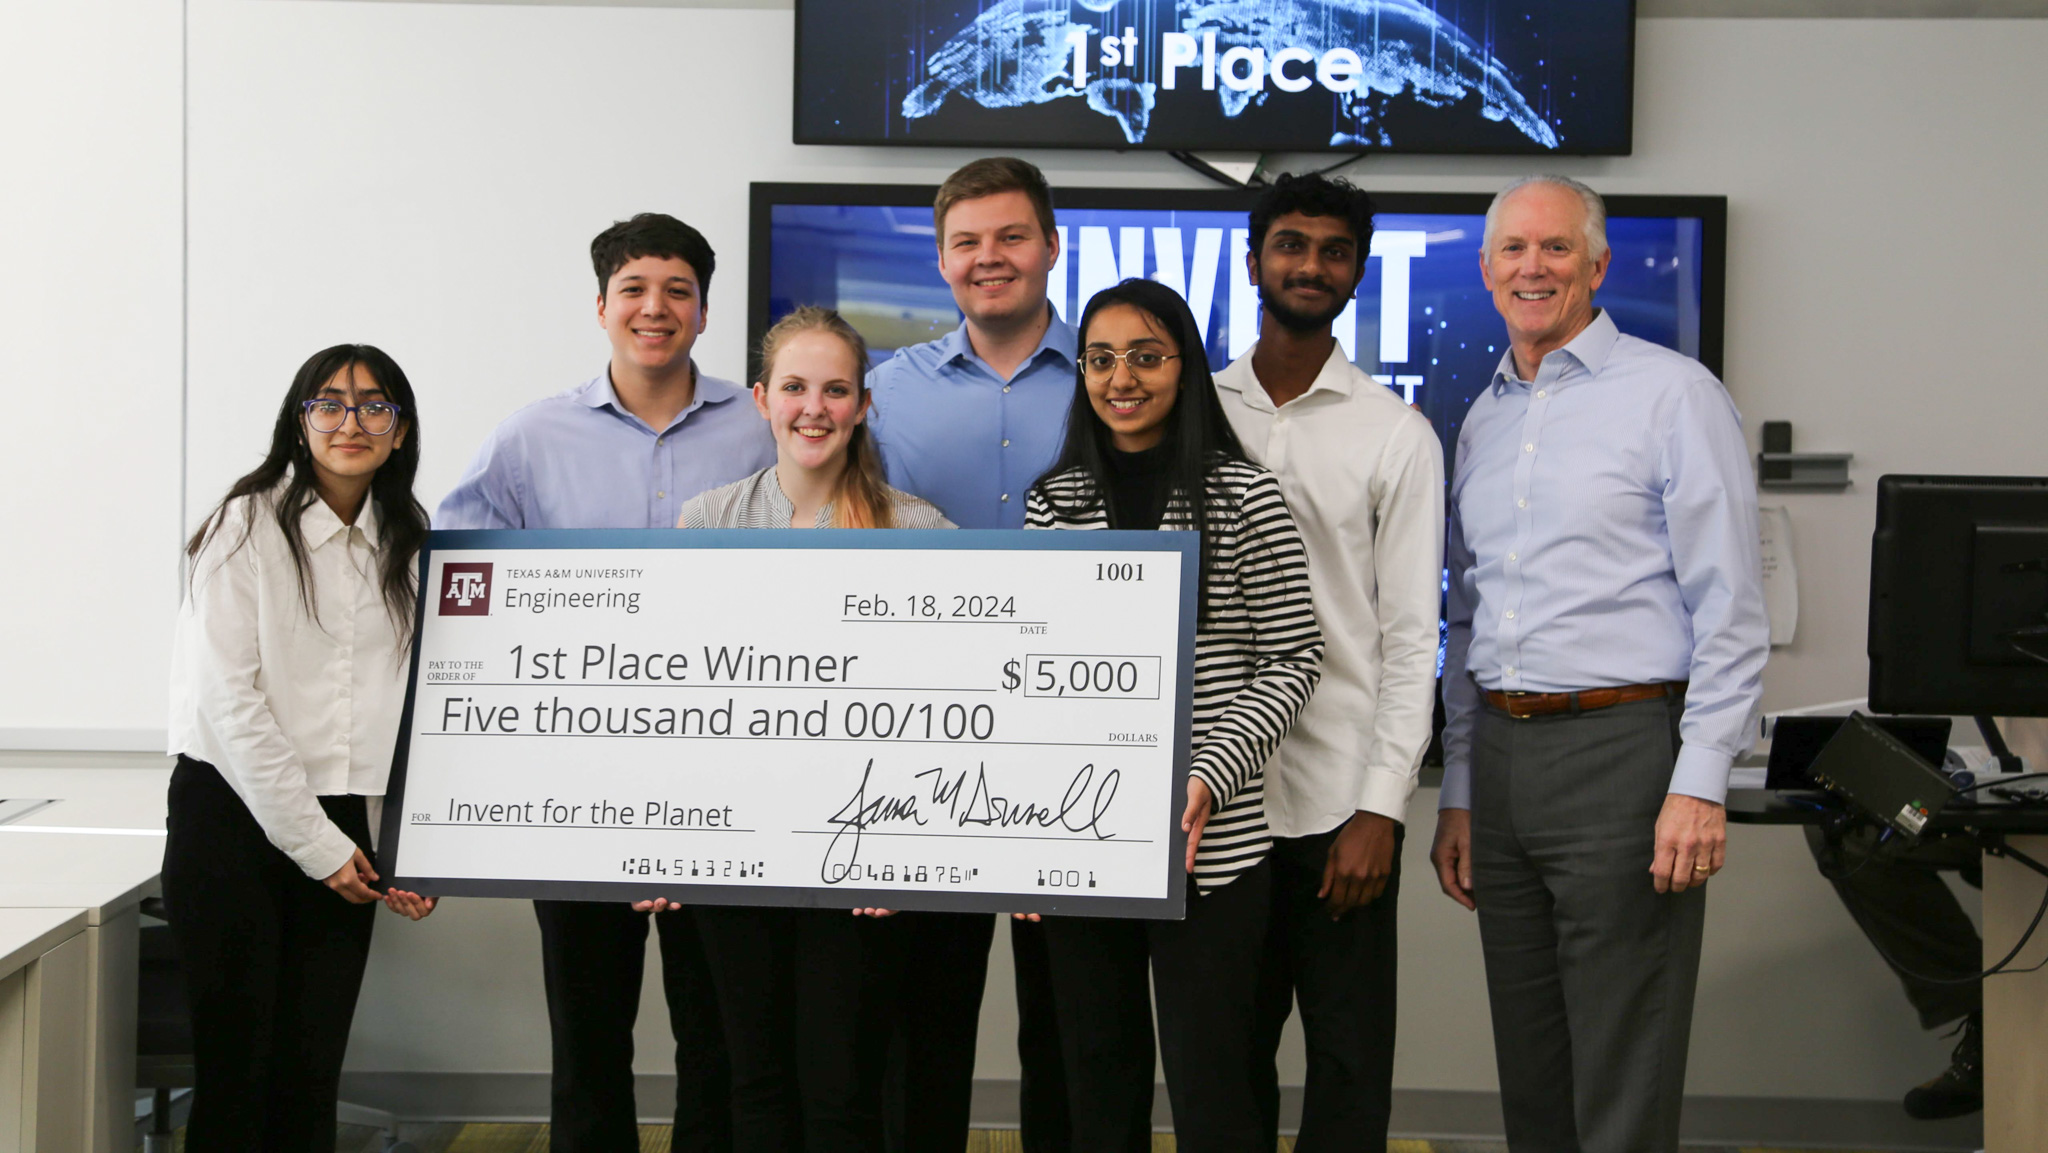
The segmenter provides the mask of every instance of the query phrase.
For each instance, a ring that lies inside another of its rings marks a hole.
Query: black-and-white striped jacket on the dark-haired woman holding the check
[[[1323,676],[1323,633],[1309,602],[1309,555],[1280,481],[1260,465],[1219,461],[1208,496],[1225,510],[1210,541],[1208,621],[1194,635],[1194,731],[1188,772],[1214,795],[1194,856],[1202,893],[1266,858],[1266,758],[1294,725]],[[1051,498],[1051,500],[1049,500]],[[1081,506],[1081,510],[1075,510]],[[1161,528],[1192,528],[1176,500]],[[1069,469],[1032,485],[1026,528],[1108,528],[1087,473]]]

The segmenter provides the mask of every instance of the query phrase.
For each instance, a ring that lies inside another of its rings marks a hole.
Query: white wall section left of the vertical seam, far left
[[[0,4],[0,737],[164,727],[180,84],[176,0]]]

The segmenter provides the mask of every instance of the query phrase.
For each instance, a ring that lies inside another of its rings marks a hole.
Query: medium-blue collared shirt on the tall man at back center
[[[975,354],[967,326],[897,348],[868,373],[889,483],[961,528],[1022,528],[1024,494],[1053,459],[1073,403],[1073,326],[1053,313],[1008,381]]]

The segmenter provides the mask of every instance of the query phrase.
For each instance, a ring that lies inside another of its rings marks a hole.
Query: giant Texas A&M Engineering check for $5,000
[[[430,895],[1180,917],[1192,532],[434,532]]]

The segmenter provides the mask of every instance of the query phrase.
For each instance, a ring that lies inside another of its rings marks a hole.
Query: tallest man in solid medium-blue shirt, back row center
[[[987,158],[946,178],[932,205],[938,270],[965,319],[897,348],[868,373],[868,428],[889,483],[961,528],[1024,528],[1024,494],[1059,455],[1075,387],[1073,328],[1047,301],[1059,258],[1053,195],[1032,164]],[[967,1143],[975,1032],[995,917],[899,913],[918,967],[897,1014],[889,1153],[958,1153]],[[1010,926],[1018,991],[1018,1120],[1028,1153],[1067,1149],[1067,1096],[1053,1026],[1044,928]]]

